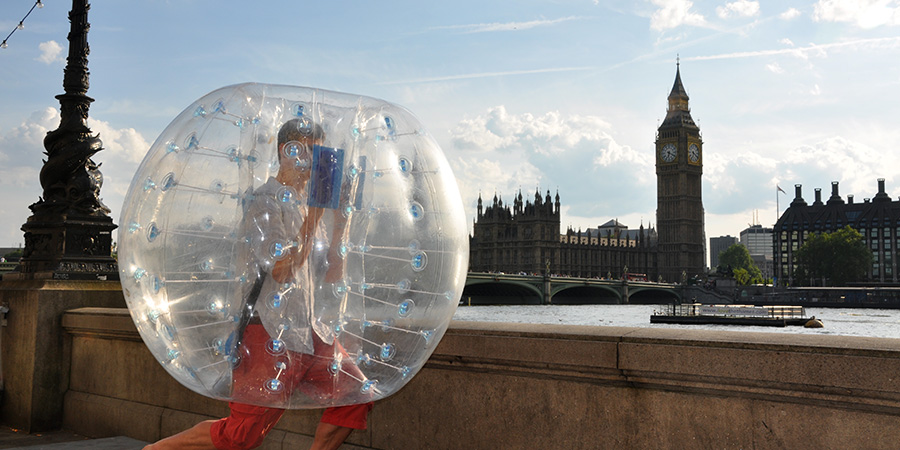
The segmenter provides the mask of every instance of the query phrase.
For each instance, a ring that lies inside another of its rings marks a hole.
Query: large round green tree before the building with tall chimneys
[[[810,235],[795,258],[795,279],[807,286],[844,286],[862,280],[872,266],[872,251],[849,225],[832,233]]]

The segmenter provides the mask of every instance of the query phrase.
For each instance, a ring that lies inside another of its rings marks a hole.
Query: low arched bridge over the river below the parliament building
[[[633,280],[470,272],[464,304],[660,304],[690,299],[686,287]]]

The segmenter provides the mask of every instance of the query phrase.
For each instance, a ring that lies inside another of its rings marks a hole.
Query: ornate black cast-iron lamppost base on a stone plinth
[[[22,225],[25,250],[24,278],[79,280],[118,279],[111,256],[110,210],[100,201],[103,175],[91,157],[103,149],[99,136],[87,126],[90,53],[88,0],[73,0],[69,12],[69,56],[63,76],[65,94],[60,103],[59,128],[47,133],[47,160],[41,168],[43,195],[29,208],[32,216]]]

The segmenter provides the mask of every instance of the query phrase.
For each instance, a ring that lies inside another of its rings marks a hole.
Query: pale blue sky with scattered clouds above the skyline
[[[0,49],[0,246],[40,192],[71,2]],[[118,222],[143,155],[192,101],[254,81],[382,98],[479,193],[559,191],[563,228],[655,224],[654,139],[676,56],[704,139],[708,237],[776,218],[795,184],[900,196],[900,1],[94,1],[89,122]],[[0,3],[0,33],[34,4]],[[757,218],[758,219],[755,219]],[[564,231],[564,230],[563,230]]]

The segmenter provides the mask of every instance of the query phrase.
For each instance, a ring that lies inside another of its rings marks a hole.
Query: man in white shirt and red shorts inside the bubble
[[[307,260],[311,259],[319,222],[329,209],[316,198],[335,197],[341,189],[340,179],[334,179],[339,175],[335,177],[334,170],[320,166],[322,161],[339,161],[333,154],[322,153],[322,149],[333,149],[321,147],[324,131],[308,119],[286,122],[277,139],[278,172],[249,195],[245,204],[247,259],[251,272],[257,275],[247,283],[245,320],[236,333],[231,413],[224,419],[201,422],[144,450],[256,448],[284,414],[284,409],[256,405],[287,405],[292,395],[359,390],[359,382],[365,380],[354,365],[340,363],[344,357],[352,358],[329,327],[312,320],[312,278],[319,268],[309,267]],[[305,205],[290,201],[307,196],[310,199]],[[333,219],[327,262],[321,264],[326,268],[322,277],[327,283],[338,281],[342,275],[337,248],[345,219],[337,209]],[[292,288],[280,289],[284,286]],[[267,295],[270,291],[279,295]],[[337,371],[334,361],[343,364]],[[336,372],[347,376],[338,379]],[[311,448],[337,449],[354,429],[366,428],[371,409],[372,402],[327,408]]]

